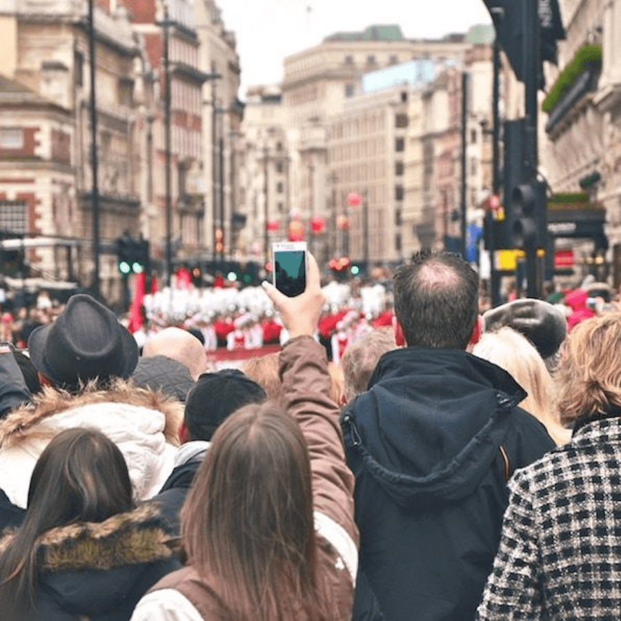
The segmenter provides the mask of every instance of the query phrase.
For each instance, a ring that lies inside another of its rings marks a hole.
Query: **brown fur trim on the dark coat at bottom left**
[[[0,541],[0,551],[14,532]],[[166,535],[157,511],[141,506],[103,522],[77,522],[43,533],[37,541],[42,571],[107,570],[172,558],[174,540]]]

